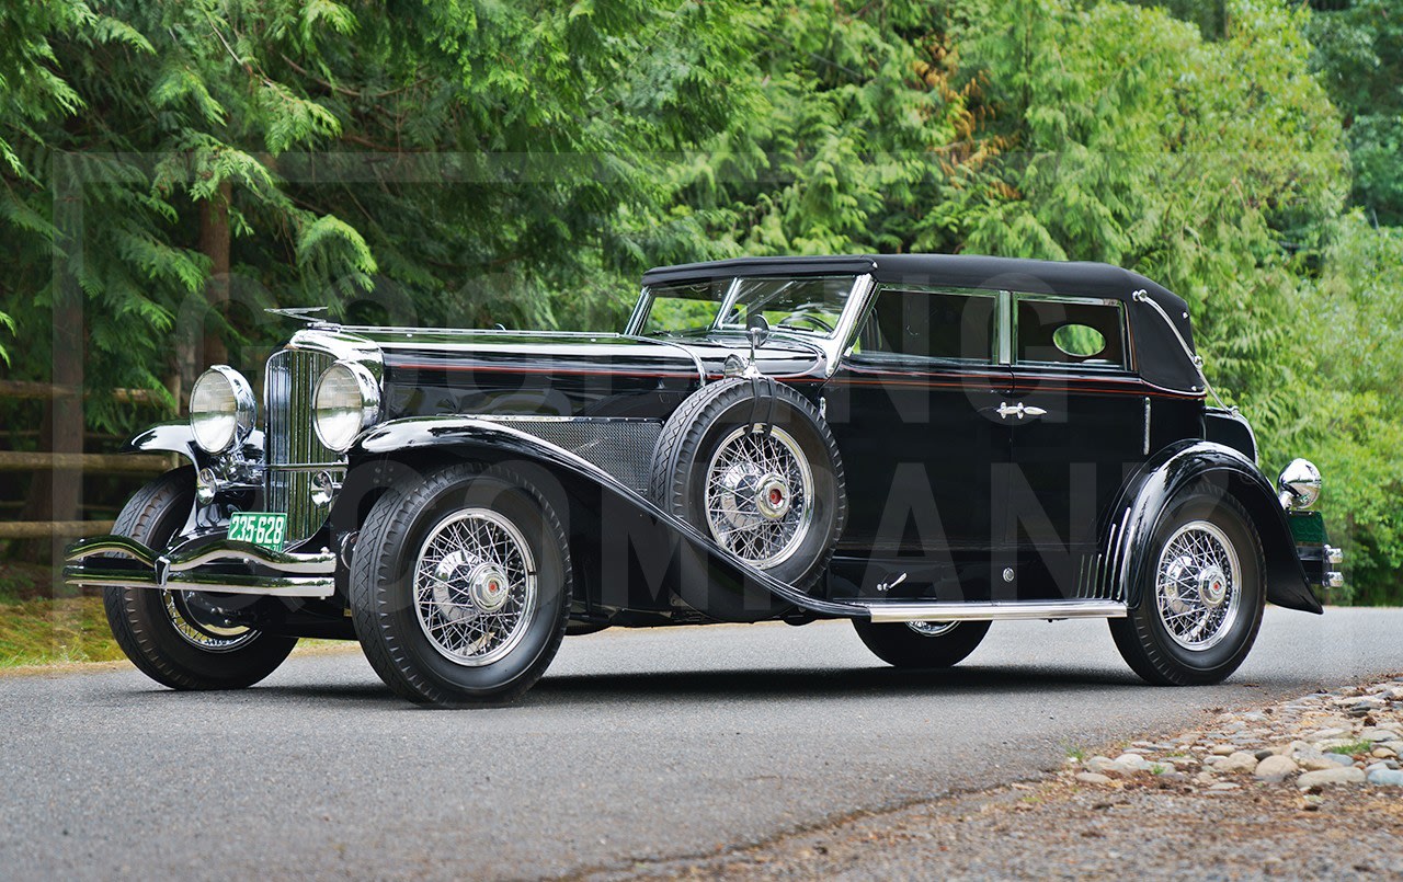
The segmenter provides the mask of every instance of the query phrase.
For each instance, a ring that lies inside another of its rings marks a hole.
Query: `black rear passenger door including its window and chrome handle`
[[[1005,494],[1020,597],[1079,596],[1099,524],[1145,460],[1146,388],[1118,300],[1014,293]]]

